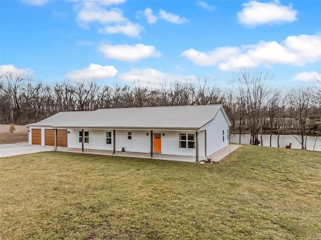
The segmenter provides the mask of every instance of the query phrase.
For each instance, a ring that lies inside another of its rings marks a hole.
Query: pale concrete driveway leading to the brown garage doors
[[[10,157],[35,152],[53,151],[54,147],[29,145],[28,143],[15,143],[15,144],[1,144],[0,157]]]

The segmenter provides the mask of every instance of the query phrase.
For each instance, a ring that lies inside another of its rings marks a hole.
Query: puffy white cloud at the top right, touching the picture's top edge
[[[296,19],[297,11],[292,6],[282,6],[275,0],[270,3],[250,1],[243,4],[243,9],[237,14],[240,24],[248,27],[255,27],[262,24],[280,24],[283,22],[292,23]]]

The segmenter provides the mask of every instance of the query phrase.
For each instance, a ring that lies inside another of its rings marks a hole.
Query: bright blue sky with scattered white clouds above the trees
[[[127,84],[321,72],[320,1],[1,1],[1,71]]]

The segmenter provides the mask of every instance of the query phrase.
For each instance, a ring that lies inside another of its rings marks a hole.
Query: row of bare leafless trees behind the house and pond
[[[269,83],[268,74],[242,70],[232,87],[209,79],[174,81],[154,88],[133,84],[101,85],[97,81],[62,81],[53,86],[23,74],[2,73],[1,123],[38,122],[61,111],[99,108],[223,104],[231,132],[251,134],[250,144],[262,144],[262,134],[295,134],[302,148],[306,136],[321,132],[321,76],[315,84],[285,92]],[[271,145],[271,137],[270,137]]]

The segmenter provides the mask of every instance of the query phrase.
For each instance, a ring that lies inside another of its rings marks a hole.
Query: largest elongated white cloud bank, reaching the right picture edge
[[[274,64],[304,66],[321,61],[321,36],[289,36],[281,43],[260,41],[253,45],[217,48],[209,52],[194,49],[184,51],[195,65],[216,65],[223,71],[239,71],[240,68],[254,68],[260,65],[271,67]]]

